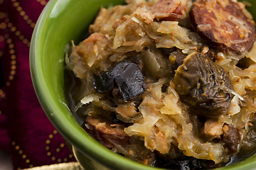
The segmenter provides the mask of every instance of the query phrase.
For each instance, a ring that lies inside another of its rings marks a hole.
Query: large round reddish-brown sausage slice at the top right
[[[245,6],[232,0],[196,0],[191,8],[193,28],[210,45],[223,52],[241,54],[255,42],[255,26],[242,12]]]

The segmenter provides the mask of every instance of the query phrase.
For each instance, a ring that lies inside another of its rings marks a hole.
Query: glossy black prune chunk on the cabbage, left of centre
[[[137,63],[124,61],[113,69],[93,77],[93,87],[99,93],[112,92],[118,101],[132,101],[146,90],[142,70]]]

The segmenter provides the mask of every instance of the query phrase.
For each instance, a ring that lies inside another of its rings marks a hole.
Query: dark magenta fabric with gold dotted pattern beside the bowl
[[[74,161],[38,103],[29,70],[33,28],[44,0],[0,0],[0,149],[14,168]]]

